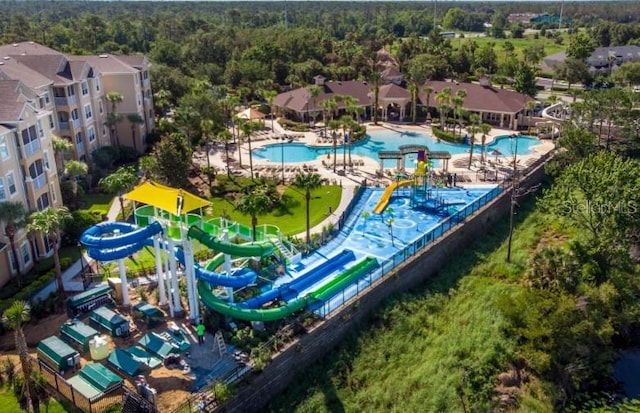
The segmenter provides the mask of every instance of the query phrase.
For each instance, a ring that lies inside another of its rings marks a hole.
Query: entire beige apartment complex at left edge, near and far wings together
[[[103,146],[144,152],[154,129],[148,69],[144,56],[70,56],[35,42],[0,45],[0,202],[20,201],[29,211],[62,205],[52,136],[73,143],[67,158],[87,163]],[[121,99],[112,103],[107,97],[113,94]],[[21,231],[14,259],[8,242],[0,223],[0,286],[18,267],[29,269],[35,256],[51,252],[47,240],[30,243]]]

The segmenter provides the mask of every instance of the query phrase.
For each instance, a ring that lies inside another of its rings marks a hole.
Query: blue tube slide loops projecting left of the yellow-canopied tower
[[[116,230],[120,233],[114,236]],[[114,261],[138,252],[150,237],[161,232],[158,222],[143,228],[126,222],[101,222],[83,232],[80,243],[87,247],[91,258]]]

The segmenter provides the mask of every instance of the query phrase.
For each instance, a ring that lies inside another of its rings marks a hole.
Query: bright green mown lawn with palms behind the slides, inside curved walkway
[[[321,223],[329,216],[329,210],[335,211],[340,205],[342,187],[326,185],[311,193],[309,206],[311,227]],[[233,202],[224,198],[213,198],[212,213],[206,219],[226,216],[232,221],[250,226],[251,217],[238,212]],[[298,235],[306,230],[306,206],[304,192],[293,186],[287,187],[282,194],[279,208],[258,217],[258,225],[275,225],[285,235]]]

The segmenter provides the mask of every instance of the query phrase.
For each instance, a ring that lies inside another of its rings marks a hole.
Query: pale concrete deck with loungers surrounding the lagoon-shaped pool
[[[292,132],[283,129],[276,121],[273,122],[273,130],[271,129],[271,120],[265,120],[265,129],[257,136],[252,137],[251,147],[252,149],[260,148],[264,145],[277,144],[283,142],[283,137],[286,135],[286,142],[289,142],[292,137],[294,142],[305,143],[307,145],[325,146],[331,147],[332,144],[322,143],[320,138],[321,127],[317,127],[316,130],[310,132]],[[378,122],[378,125],[374,125],[373,122],[365,123],[367,131],[380,131],[391,130],[398,133],[402,132],[419,132],[433,136],[431,126],[426,124],[399,124],[389,122]],[[466,133],[466,130],[465,130]],[[515,133],[510,129],[498,129],[492,128],[487,134],[485,144],[490,144],[496,137],[512,135]],[[479,141],[478,135],[476,135],[476,141]],[[479,147],[479,145],[478,145]],[[529,155],[518,155],[517,165],[518,168],[525,168],[531,162],[538,159],[543,154],[552,151],[554,144],[550,140],[541,140],[540,145],[536,145],[531,148],[532,153]],[[238,150],[235,147],[229,149],[229,158],[234,160],[232,162],[231,169],[236,174],[249,175],[249,145],[244,143],[240,147],[241,156],[238,154]],[[207,154],[204,152],[194,153],[194,161],[201,165],[207,165]],[[224,173],[227,168],[225,161],[225,150],[222,145],[213,147],[209,151],[209,162],[211,166],[216,167],[220,173]],[[242,165],[239,164],[238,159],[241,157]],[[333,158],[317,158],[313,161],[299,162],[299,163],[285,163],[284,177],[285,179],[292,179],[299,171],[312,171],[320,174],[325,180],[330,183],[341,185],[344,188],[343,197],[340,201],[340,205],[331,214],[329,218],[323,221],[321,224],[312,228],[312,233],[319,233],[322,228],[326,227],[329,223],[336,223],[340,218],[340,215],[346,209],[347,205],[352,199],[352,195],[356,188],[360,186],[363,181],[369,185],[386,187],[394,181],[395,171],[392,169],[385,169],[385,173],[381,176],[378,173],[380,164],[377,160],[352,155],[351,159],[356,166],[349,168],[338,165],[336,172],[333,172]],[[497,160],[497,162],[495,162]],[[337,163],[342,161],[341,154],[338,154]],[[473,156],[473,162],[471,168],[467,168],[469,163],[468,154],[452,155],[449,160],[448,172],[456,174],[458,177],[459,185],[487,185],[497,183],[503,179],[509,177],[513,172],[513,159],[511,156],[499,156],[487,154],[485,161],[486,166],[483,167],[480,162],[480,154]],[[253,158],[254,173],[263,175],[271,175],[276,178],[280,178],[283,175],[281,164],[279,162],[270,162],[254,157]],[[438,171],[442,171],[438,168]],[[304,236],[304,234],[301,234]]]

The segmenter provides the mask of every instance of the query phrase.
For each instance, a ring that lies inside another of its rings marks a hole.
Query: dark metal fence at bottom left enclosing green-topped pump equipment
[[[64,377],[55,372],[51,367],[47,366],[42,361],[32,357],[29,358],[29,361],[31,363],[32,370],[39,371],[45,378],[45,380],[47,380],[50,390],[53,390],[56,395],[62,396],[65,399],[69,400],[74,406],[84,412],[102,412],[111,406],[123,404],[125,398],[127,397],[136,399],[139,405],[143,406],[144,410],[139,411],[144,411],[147,413],[157,412],[156,408],[151,403],[142,399],[131,390],[127,389],[124,384],[119,384],[110,389],[107,389],[105,392],[95,397],[87,398],[82,393],[74,389],[73,386]]]

